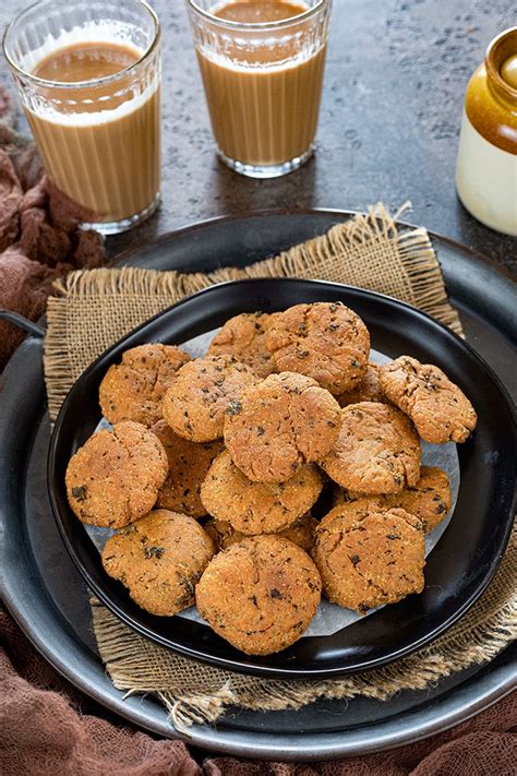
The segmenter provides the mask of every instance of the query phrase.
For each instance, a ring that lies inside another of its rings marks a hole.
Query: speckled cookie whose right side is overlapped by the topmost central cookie
[[[189,361],[165,394],[164,418],[179,437],[212,442],[223,437],[228,406],[256,382],[250,367],[233,356],[205,356]]]

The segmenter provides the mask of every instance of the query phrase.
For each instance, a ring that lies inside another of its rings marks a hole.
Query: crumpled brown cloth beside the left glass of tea
[[[35,321],[53,280],[103,263],[104,242],[79,228],[81,212],[51,187],[34,143],[14,130],[15,119],[0,84],[0,308]],[[23,337],[0,321],[0,371]]]

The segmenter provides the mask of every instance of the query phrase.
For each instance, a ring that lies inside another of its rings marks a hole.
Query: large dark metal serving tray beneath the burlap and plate
[[[178,270],[244,264],[326,230],[346,213],[310,212],[219,219],[171,235],[124,263]],[[226,237],[225,237],[226,235]],[[517,395],[515,288],[480,256],[435,237],[452,302],[468,341]],[[45,466],[49,438],[41,344],[29,337],[4,373],[0,396],[0,545],[5,602],[29,638],[70,681],[136,725],[175,731],[151,697],[122,700],[106,678],[92,633],[87,592],[51,518]],[[494,661],[404,692],[387,703],[318,701],[297,712],[229,709],[216,727],[194,726],[192,743],[243,756],[321,760],[418,740],[476,714],[515,687],[515,648]]]

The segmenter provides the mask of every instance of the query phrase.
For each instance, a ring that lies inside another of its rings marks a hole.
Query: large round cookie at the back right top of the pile
[[[358,385],[366,372],[370,334],[339,302],[296,305],[275,319],[266,338],[279,372],[300,372],[332,394]]]

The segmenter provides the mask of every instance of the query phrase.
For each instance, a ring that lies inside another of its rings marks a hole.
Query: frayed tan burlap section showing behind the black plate
[[[409,206],[406,203],[392,216],[378,203],[364,215],[336,224],[323,236],[244,268],[223,267],[207,274],[134,267],[71,273],[56,284],[57,296],[48,301],[44,366],[50,418],[57,417],[67,393],[88,366],[81,362],[81,354],[77,357],[74,337],[82,336],[76,329],[84,326],[84,321],[77,321],[76,310],[82,302],[94,299],[106,302],[98,308],[103,310],[108,310],[108,302],[113,299],[120,300],[121,306],[125,300],[127,305],[124,325],[117,330],[115,339],[109,336],[109,325],[104,339],[97,332],[98,344],[88,354],[89,361],[131,329],[180,299],[216,283],[247,277],[316,278],[381,291],[420,308],[462,335],[426,230],[399,230],[397,226],[397,218]]]

